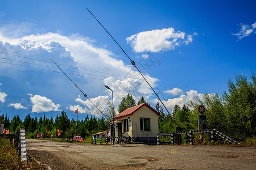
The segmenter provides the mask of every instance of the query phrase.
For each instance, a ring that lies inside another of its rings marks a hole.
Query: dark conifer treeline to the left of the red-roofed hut
[[[15,133],[16,130],[24,128],[26,130],[26,138],[36,138],[37,134],[43,134],[43,138],[73,138],[76,133],[77,124],[77,135],[81,135],[83,138],[88,137],[91,134],[97,133],[98,131],[104,131],[108,129],[108,124],[104,117],[88,117],[86,116],[84,120],[69,120],[67,113],[62,111],[60,115],[57,114],[55,120],[53,118],[47,118],[45,115],[33,118],[30,114],[24,118],[22,121],[19,115],[15,115],[13,120],[9,120],[6,115],[3,121],[4,127],[10,129],[10,133]],[[58,136],[58,130],[60,129],[60,135]],[[47,133],[47,131],[48,133]]]

